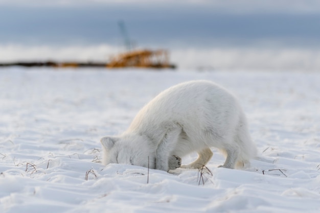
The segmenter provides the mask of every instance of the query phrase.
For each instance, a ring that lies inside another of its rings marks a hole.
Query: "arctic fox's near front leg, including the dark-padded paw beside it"
[[[173,149],[175,148],[180,133],[181,127],[174,126],[173,128],[170,128],[165,134],[163,140],[156,149],[156,170],[163,170],[168,172],[170,169],[176,169],[180,167],[181,158],[171,155]]]

